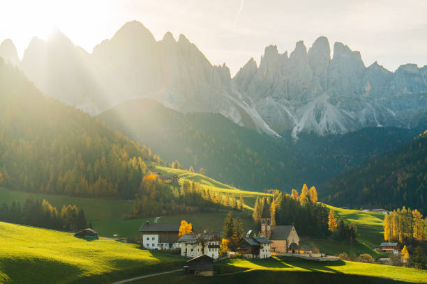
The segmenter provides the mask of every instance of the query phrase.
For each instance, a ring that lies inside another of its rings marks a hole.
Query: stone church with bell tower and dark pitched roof
[[[299,237],[293,225],[271,226],[270,219],[262,219],[261,235],[272,242],[272,253],[298,253]]]

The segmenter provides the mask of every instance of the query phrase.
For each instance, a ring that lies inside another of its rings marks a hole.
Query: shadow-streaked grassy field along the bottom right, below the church
[[[311,262],[299,258],[232,259],[216,264],[216,276],[182,273],[150,278],[155,283],[427,283],[427,271],[360,262]],[[134,284],[144,283],[135,281]]]

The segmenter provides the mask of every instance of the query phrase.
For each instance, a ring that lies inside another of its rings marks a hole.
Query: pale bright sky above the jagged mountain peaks
[[[10,38],[22,58],[31,38],[60,29],[88,52],[124,23],[142,22],[156,40],[183,33],[211,63],[235,74],[264,48],[292,52],[327,36],[361,52],[366,66],[389,70],[427,65],[426,0],[0,0],[0,42]]]

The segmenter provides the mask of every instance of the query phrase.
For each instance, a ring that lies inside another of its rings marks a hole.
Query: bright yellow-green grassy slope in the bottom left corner
[[[181,258],[137,245],[0,222],[0,283],[111,283],[176,269]]]

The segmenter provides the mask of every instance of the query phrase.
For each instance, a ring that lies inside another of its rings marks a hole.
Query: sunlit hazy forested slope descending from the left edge
[[[0,58],[0,183],[22,191],[133,198],[144,145],[40,93]]]

